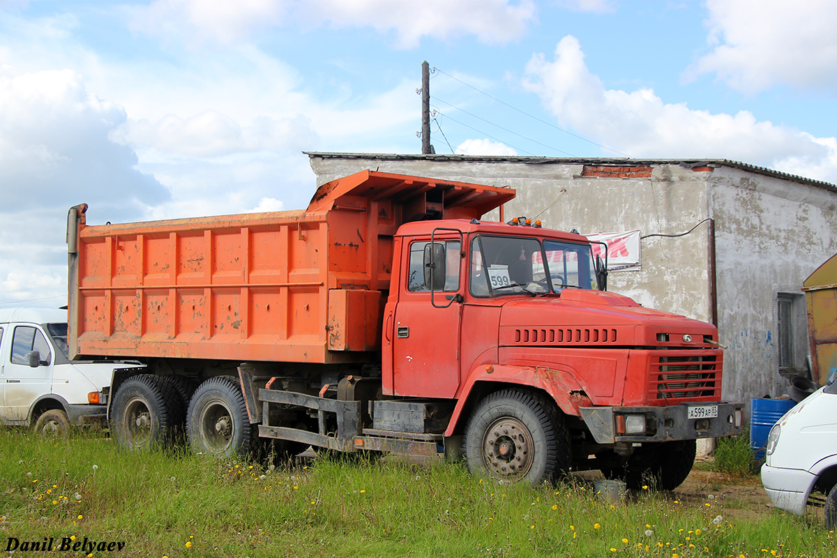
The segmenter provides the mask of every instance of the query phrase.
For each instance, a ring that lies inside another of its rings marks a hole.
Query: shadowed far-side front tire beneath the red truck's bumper
[[[620,479],[629,489],[653,486],[660,490],[674,490],[689,476],[695,464],[697,441],[656,443],[634,453],[624,467],[603,468],[607,479]]]

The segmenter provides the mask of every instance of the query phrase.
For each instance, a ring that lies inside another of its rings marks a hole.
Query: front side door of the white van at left
[[[38,397],[52,392],[53,353],[44,332],[34,325],[16,325],[5,335],[12,335],[12,351],[4,355],[3,408],[10,421],[25,421],[29,408]],[[39,366],[29,366],[29,353],[39,352]]]

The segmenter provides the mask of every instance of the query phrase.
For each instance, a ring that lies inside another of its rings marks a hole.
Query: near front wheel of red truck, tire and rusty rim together
[[[494,392],[477,405],[463,447],[472,474],[532,486],[555,479],[570,465],[567,427],[554,402],[516,389]]]

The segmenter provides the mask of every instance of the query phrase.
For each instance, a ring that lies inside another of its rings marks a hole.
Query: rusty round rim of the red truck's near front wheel
[[[531,432],[523,422],[502,417],[492,422],[482,439],[483,459],[489,473],[501,479],[520,479],[535,457]]]

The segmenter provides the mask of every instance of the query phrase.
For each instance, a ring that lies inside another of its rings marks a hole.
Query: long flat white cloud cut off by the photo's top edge
[[[531,0],[155,0],[135,9],[131,28],[187,44],[238,43],[288,24],[373,28],[394,33],[398,47],[411,49],[424,37],[467,34],[504,44],[521,38],[535,13]]]

